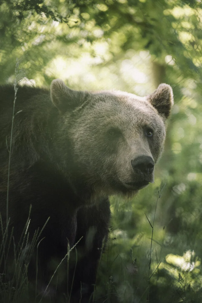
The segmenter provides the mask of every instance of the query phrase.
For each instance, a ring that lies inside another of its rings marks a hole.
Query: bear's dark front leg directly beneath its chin
[[[74,266],[71,270],[72,272],[75,270],[71,303],[80,302],[79,300],[82,303],[87,303],[92,299],[98,262],[103,245],[108,237],[109,220],[110,205],[108,198],[102,199],[99,204],[83,207],[77,213],[76,241],[81,237],[83,238],[76,246],[76,268]]]

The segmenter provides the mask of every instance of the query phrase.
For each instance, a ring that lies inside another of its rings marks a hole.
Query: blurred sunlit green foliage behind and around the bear
[[[130,201],[111,198],[94,299],[201,303],[201,1],[1,0],[0,37],[0,83],[13,82],[18,58],[30,85],[62,78],[75,89],[137,95],[173,87],[155,184]]]

